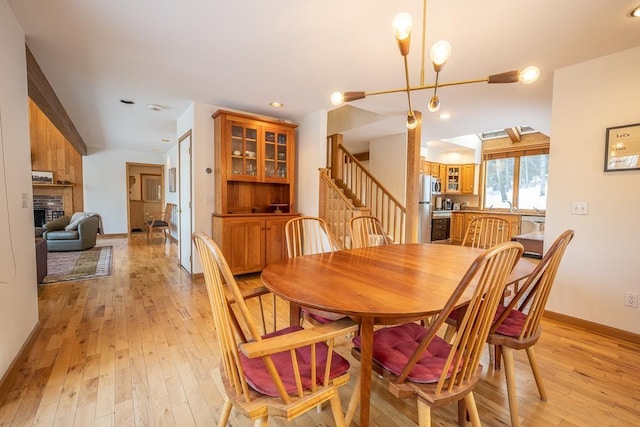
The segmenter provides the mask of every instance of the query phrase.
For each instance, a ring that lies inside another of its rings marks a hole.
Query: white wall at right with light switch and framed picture
[[[640,48],[554,75],[545,245],[575,230],[548,303],[551,311],[640,333],[640,171],[603,172],[607,127],[640,122]],[[589,214],[571,215],[572,201]]]

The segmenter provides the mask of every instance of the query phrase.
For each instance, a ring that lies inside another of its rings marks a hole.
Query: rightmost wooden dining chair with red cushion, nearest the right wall
[[[495,321],[489,331],[487,342],[495,346],[496,355],[494,359],[497,369],[500,368],[501,355],[504,355],[512,426],[520,425],[513,350],[524,349],[527,352],[529,365],[533,371],[533,378],[540,393],[540,399],[542,401],[547,400],[547,393],[536,361],[534,345],[542,334],[540,320],[544,314],[560,261],[573,238],[573,234],[573,230],[567,230],[553,242],[518,293],[514,295],[507,305],[501,304],[498,306]]]

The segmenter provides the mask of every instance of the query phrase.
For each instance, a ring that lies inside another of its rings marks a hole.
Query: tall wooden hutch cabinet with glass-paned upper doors
[[[296,125],[219,110],[215,125],[213,240],[233,274],[287,257],[284,226],[295,213]]]

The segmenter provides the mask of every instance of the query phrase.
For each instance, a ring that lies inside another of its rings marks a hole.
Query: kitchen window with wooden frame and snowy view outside
[[[485,155],[484,207],[544,210],[549,149]]]

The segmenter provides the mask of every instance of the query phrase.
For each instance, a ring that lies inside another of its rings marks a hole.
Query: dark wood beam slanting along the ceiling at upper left
[[[31,53],[29,46],[27,49],[27,81],[29,98],[42,110],[51,120],[51,123],[58,128],[60,133],[69,141],[71,146],[83,156],[87,155],[87,145],[82,140],[75,125],[69,118],[67,111],[62,106],[55,91],[49,84],[47,77],[42,72],[38,61]]]

